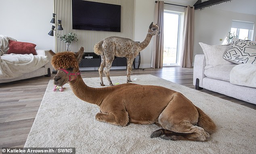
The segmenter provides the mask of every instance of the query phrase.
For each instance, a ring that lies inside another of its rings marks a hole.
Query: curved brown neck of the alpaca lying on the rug
[[[73,93],[81,100],[97,104],[98,106],[101,105],[103,97],[105,96],[101,88],[88,87],[84,83],[81,75],[78,75],[78,77],[75,80],[70,81],[69,84]]]

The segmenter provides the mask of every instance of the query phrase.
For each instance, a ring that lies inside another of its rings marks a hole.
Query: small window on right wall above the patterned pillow
[[[231,25],[231,32],[236,33],[238,39],[252,40],[253,28],[253,22],[233,20]]]

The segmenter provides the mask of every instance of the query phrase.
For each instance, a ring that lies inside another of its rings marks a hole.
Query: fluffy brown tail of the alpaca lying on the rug
[[[199,113],[199,119],[198,119],[198,123],[197,125],[199,127],[204,128],[205,131],[207,131],[209,134],[212,134],[216,131],[216,125],[214,124],[214,122],[212,121],[212,119],[210,119],[210,117],[208,117],[208,115],[206,115],[200,108],[198,108],[197,106],[195,106],[195,108],[197,108],[197,111]]]

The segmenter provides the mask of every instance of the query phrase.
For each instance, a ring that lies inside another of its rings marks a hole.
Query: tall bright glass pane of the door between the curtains
[[[177,65],[179,14],[164,12],[163,66]]]

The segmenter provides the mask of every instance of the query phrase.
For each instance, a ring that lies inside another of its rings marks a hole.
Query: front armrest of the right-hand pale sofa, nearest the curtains
[[[206,58],[204,54],[195,55],[194,69],[193,69],[193,85],[196,85],[196,79],[199,79],[199,87],[203,87],[202,81],[206,77],[204,75],[204,68],[206,66]]]

